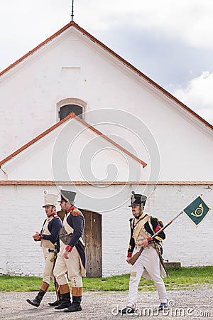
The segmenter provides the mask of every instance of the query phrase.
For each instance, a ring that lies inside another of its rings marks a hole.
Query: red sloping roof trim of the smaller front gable
[[[146,162],[142,161],[141,159],[139,159],[137,156],[134,156],[133,154],[131,154],[131,152],[129,152],[128,150],[124,149],[122,146],[120,146],[119,144],[116,144],[116,142],[114,142],[113,140],[111,140],[109,137],[107,137],[105,134],[102,134],[102,132],[100,132],[99,130],[95,129],[94,127],[92,127],[90,124],[88,124],[87,122],[85,122],[84,120],[80,119],[80,117],[77,117],[77,115],[75,115],[74,112],[71,112],[70,114],[67,115],[67,117],[65,117],[65,119],[62,119],[60,122],[54,124],[52,127],[50,127],[49,129],[45,130],[45,132],[43,132],[42,134],[39,134],[37,137],[35,137],[34,139],[32,139],[30,142],[28,142],[27,144],[24,144],[23,146],[21,146],[21,148],[19,148],[18,150],[14,151],[12,154],[10,154],[9,156],[7,156],[5,159],[0,161],[0,166],[2,166],[3,164],[6,163],[6,161],[11,160],[14,156],[17,156],[17,154],[20,154],[21,151],[25,150],[28,148],[28,146],[31,146],[32,144],[34,144],[35,142],[37,142],[39,139],[45,137],[46,134],[52,132],[55,128],[59,127],[62,123],[66,122],[68,119],[70,118],[75,118],[77,119],[77,121],[81,122],[82,124],[84,124],[85,127],[87,127],[88,129],[92,130],[94,133],[98,134],[99,136],[101,136],[103,139],[107,140],[109,143],[113,144],[114,146],[116,146],[116,148],[118,148],[119,150],[123,151],[125,154],[127,154],[128,156],[131,156],[131,158],[133,158],[134,160],[138,161],[140,164],[142,164],[143,168],[145,166],[147,166]]]

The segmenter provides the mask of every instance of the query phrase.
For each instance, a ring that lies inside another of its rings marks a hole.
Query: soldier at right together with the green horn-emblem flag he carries
[[[153,217],[146,215],[143,208],[146,203],[146,196],[132,193],[131,207],[134,218],[131,219],[131,239],[129,242],[129,250],[127,262],[131,264],[131,276],[129,281],[129,302],[124,309],[121,309],[122,314],[133,314],[136,312],[136,297],[138,291],[138,284],[141,276],[146,277],[150,274],[158,289],[158,296],[160,298],[159,310],[167,307],[167,296],[163,279],[160,278],[160,264],[163,265],[162,259],[157,260],[155,250],[152,249],[163,239],[165,234],[163,230],[168,227],[173,221],[182,213],[185,213],[188,218],[196,226],[206,218],[209,213],[209,206],[204,202],[201,196],[198,196],[192,203],[176,215],[173,220],[160,228],[160,224],[153,220]],[[149,220],[150,219],[150,220]],[[140,228],[141,227],[141,228]],[[155,233],[153,232],[155,231]],[[151,247],[153,245],[153,247]],[[134,255],[132,255],[133,249]],[[149,250],[147,250],[149,249]],[[155,255],[155,256],[154,256]],[[160,258],[161,255],[158,255]],[[166,270],[165,270],[166,271]],[[163,276],[163,274],[161,273]],[[148,278],[146,278],[148,279]]]

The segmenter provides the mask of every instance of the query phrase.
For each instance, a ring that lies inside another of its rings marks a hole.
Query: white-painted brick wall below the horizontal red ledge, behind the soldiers
[[[94,188],[77,186],[63,188],[76,190],[76,205],[80,208],[96,210],[95,201],[82,201],[82,194],[94,199],[102,196],[104,208],[109,208],[110,195],[119,191],[120,186]],[[152,190],[152,186],[149,186]],[[43,255],[38,242],[31,237],[40,230],[45,212],[43,190],[57,192],[53,186],[0,186],[1,194],[1,256],[0,273],[41,275]],[[102,212],[102,265],[103,276],[129,272],[126,251],[129,245],[129,194],[133,186],[123,191],[124,201],[120,208]],[[141,192],[142,188],[138,189]],[[212,189],[207,186],[157,186],[146,204],[146,212],[157,216],[164,223],[180,213],[200,193],[213,206]],[[147,190],[148,194],[148,190]],[[104,200],[105,197],[105,200]],[[105,201],[105,203],[104,203]],[[93,203],[93,204],[92,204]],[[113,206],[113,203],[110,203]],[[101,212],[99,212],[101,213]],[[212,265],[212,213],[202,225],[195,228],[185,215],[178,218],[166,231],[164,257],[170,262],[180,261],[182,266]]]

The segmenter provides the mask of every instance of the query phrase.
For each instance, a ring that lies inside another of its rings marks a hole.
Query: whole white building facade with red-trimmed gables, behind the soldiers
[[[77,206],[97,214],[104,277],[129,272],[132,190],[164,223],[200,193],[212,206],[212,125],[75,22],[3,70],[0,82],[0,273],[42,272],[31,235],[45,219],[44,189],[77,191]],[[210,213],[195,228],[180,216],[166,232],[165,259],[212,265],[211,222]],[[92,252],[89,238],[92,231]]]

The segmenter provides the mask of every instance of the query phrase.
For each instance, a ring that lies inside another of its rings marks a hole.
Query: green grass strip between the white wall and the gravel
[[[202,287],[212,288],[213,266],[212,267],[180,267],[177,270],[168,270],[170,277],[164,279],[167,290],[178,289],[199,289]],[[38,277],[11,277],[0,276],[1,292],[28,292],[38,291],[42,279]],[[108,278],[83,278],[84,292],[87,291],[128,291],[129,274]],[[54,284],[51,282],[49,291],[54,291]],[[141,279],[139,284],[141,291],[155,291],[155,284],[152,280]]]

